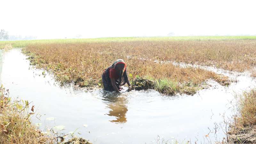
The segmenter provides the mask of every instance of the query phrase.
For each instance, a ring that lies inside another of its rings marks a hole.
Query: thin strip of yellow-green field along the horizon
[[[214,40],[248,40],[256,39],[256,36],[168,36],[168,37],[107,37],[85,39],[49,39],[49,40],[20,40],[0,41],[0,47],[12,44],[12,47],[25,47],[28,44],[45,43],[101,43],[101,42],[129,42],[129,41],[214,41]]]

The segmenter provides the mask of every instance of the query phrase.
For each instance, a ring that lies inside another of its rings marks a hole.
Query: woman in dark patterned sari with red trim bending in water
[[[106,91],[121,91],[121,85],[127,83],[129,89],[131,84],[126,73],[124,60],[116,60],[110,67],[106,68],[102,74],[102,83]]]

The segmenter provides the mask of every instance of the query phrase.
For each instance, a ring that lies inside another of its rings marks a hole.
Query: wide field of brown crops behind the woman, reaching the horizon
[[[210,40],[207,37],[198,37],[199,40],[196,37],[193,40],[189,37],[171,38],[159,38],[162,41],[150,38],[117,38],[111,41],[111,38],[103,38],[64,43],[50,40],[44,44],[28,44],[23,50],[30,56],[32,64],[51,70],[62,84],[73,82],[82,87],[100,86],[102,71],[116,59],[123,59],[128,64],[131,80],[138,76],[151,79],[157,83],[155,89],[166,94],[193,94],[210,78],[222,85],[231,81],[200,68],[180,68],[172,62],[238,72],[250,71],[256,65],[256,40],[248,37],[212,37]]]

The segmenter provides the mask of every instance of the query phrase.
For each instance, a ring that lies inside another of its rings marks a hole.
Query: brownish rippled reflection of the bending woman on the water
[[[110,120],[110,122],[114,123],[126,123],[126,113],[128,111],[127,109],[127,98],[126,96],[121,96],[117,94],[109,94],[108,92],[105,92],[103,94],[102,100],[107,101],[107,107],[110,108],[109,112],[107,113],[108,116],[115,116],[115,120]]]

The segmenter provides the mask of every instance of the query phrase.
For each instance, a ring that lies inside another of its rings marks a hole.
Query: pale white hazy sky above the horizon
[[[0,29],[40,38],[256,35],[255,0],[1,0]]]

